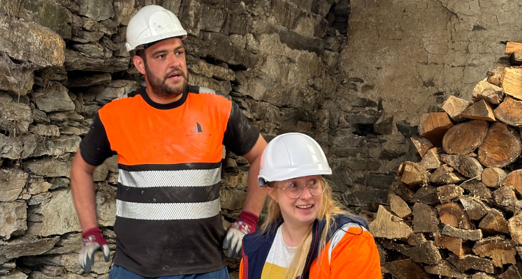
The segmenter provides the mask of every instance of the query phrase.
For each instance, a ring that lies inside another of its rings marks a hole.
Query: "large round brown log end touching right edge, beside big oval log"
[[[477,158],[486,167],[505,167],[519,158],[521,151],[519,135],[505,123],[496,122],[479,146]]]

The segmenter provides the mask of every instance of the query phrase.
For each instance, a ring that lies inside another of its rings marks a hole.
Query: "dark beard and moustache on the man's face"
[[[183,77],[183,82],[177,86],[171,86],[166,83],[167,78],[172,75],[173,72],[178,71]],[[154,94],[161,97],[177,97],[180,96],[186,89],[189,82],[188,73],[184,73],[181,68],[175,68],[171,72],[167,73],[163,79],[155,76],[151,71],[147,63],[145,63],[145,76],[149,82],[150,89]]]

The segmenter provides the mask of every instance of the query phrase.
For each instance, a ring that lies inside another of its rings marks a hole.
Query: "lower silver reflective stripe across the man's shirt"
[[[210,202],[158,203],[124,202],[116,199],[116,216],[138,220],[193,220],[221,212],[219,198]]]

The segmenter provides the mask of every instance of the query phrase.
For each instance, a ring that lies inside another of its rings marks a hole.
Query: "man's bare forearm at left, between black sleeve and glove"
[[[98,227],[96,193],[92,175],[94,168],[94,166],[85,163],[85,160],[80,155],[80,151],[76,153],[71,165],[71,192],[83,232],[87,229]]]

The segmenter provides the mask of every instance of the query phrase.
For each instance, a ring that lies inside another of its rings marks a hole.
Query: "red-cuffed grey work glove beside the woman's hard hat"
[[[256,225],[259,217],[254,213],[242,211],[237,221],[230,225],[226,232],[223,248],[226,251],[226,257],[236,259],[241,255],[241,244],[243,236],[256,231]]]

